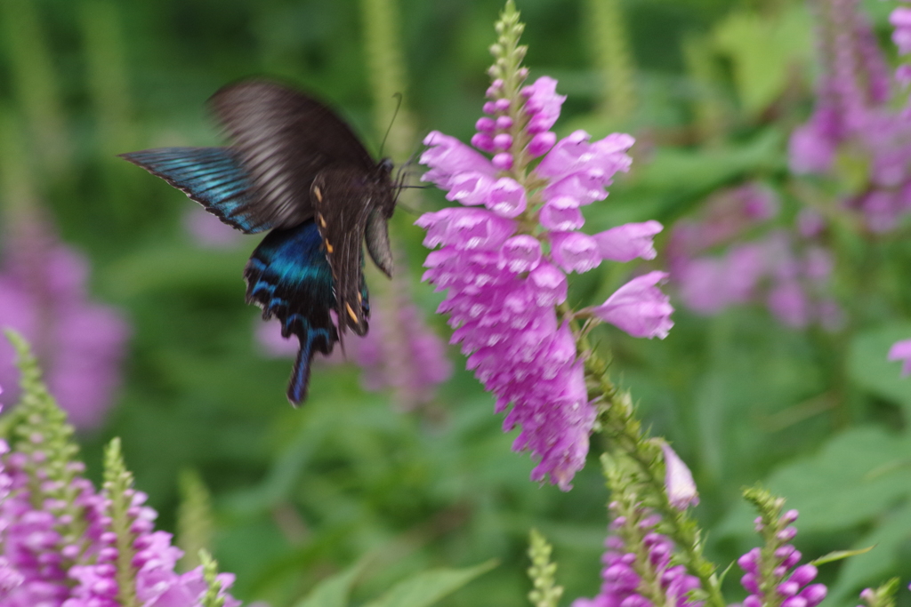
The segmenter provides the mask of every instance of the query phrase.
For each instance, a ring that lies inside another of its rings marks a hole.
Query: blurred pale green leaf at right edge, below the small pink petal
[[[848,375],[875,395],[894,400],[911,413],[911,379],[901,363],[886,359],[896,341],[911,338],[911,323],[895,323],[859,334],[848,353]]]

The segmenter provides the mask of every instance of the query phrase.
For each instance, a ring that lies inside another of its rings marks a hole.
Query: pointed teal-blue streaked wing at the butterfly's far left
[[[221,221],[247,234],[271,228],[254,222],[255,197],[247,171],[227,147],[161,147],[121,154],[199,202]]]

